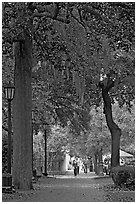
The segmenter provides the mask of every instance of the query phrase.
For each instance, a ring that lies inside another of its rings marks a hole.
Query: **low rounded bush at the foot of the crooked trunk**
[[[117,166],[111,169],[113,182],[116,186],[132,188],[135,187],[135,167]]]

